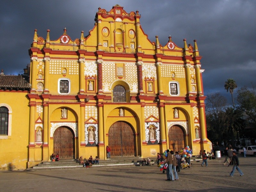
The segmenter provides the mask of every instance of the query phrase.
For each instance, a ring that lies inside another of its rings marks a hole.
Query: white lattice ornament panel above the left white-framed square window
[[[50,60],[49,74],[61,74],[61,69],[66,68],[68,75],[79,75],[77,60]]]

